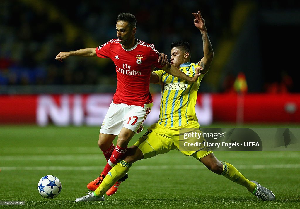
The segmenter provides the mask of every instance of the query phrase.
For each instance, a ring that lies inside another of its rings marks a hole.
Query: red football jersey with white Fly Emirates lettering
[[[116,65],[117,90],[113,97],[115,104],[152,106],[152,96],[149,92],[152,65],[161,68],[158,52],[153,44],[137,40],[131,49],[124,49],[119,40],[112,39],[96,48],[96,54],[101,58],[110,58]]]

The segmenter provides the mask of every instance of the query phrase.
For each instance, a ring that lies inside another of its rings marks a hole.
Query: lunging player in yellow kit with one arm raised
[[[170,64],[174,65],[187,75],[193,76],[196,68],[201,68],[201,76],[195,83],[189,83],[167,74],[162,70],[152,72],[150,82],[161,84],[162,98],[160,119],[153,124],[140,139],[127,150],[125,157],[114,166],[103,179],[99,187],[88,195],[77,198],[81,201],[103,201],[104,193],[115,193],[122,178],[130,169],[132,163],[155,155],[164,154],[177,149],[184,155],[193,156],[202,162],[212,172],[223,175],[231,181],[247,188],[249,192],[263,200],[275,200],[274,194],[256,181],[249,181],[238,170],[227,162],[219,161],[209,147],[201,147],[198,151],[180,150],[179,137],[184,128],[198,129],[199,123],[195,113],[195,105],[199,84],[211,65],[214,52],[208,38],[204,19],[200,11],[193,13],[194,24],[202,35],[204,57],[198,63],[190,63],[190,45],[187,42],[177,41],[171,45]],[[202,140],[205,140],[202,138]]]

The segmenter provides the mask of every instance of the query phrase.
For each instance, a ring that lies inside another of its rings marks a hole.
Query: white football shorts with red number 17
[[[119,135],[123,127],[140,133],[143,131],[143,122],[150,111],[151,107],[114,104],[112,102],[101,125],[100,133]]]

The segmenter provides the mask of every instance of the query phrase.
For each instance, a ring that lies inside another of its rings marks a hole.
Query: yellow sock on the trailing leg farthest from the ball
[[[221,175],[225,176],[226,178],[237,184],[246,187],[249,192],[254,192],[256,184],[245,178],[244,175],[238,172],[238,170],[233,165],[227,162],[221,163],[223,163],[223,172],[221,173]]]

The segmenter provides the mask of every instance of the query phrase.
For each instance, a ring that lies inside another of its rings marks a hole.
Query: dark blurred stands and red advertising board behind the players
[[[124,1],[122,5],[72,1],[56,5],[46,0],[4,0],[0,8],[0,123],[100,125],[109,102],[99,99],[106,102],[90,105],[85,99],[89,95],[80,94],[112,96],[116,90],[113,62],[70,57],[60,63],[55,56],[116,38],[116,16],[126,11],[137,17],[138,39],[153,43],[165,54],[170,54],[173,41],[189,41],[191,61],[197,62],[203,48],[193,26],[191,12],[195,9],[202,11],[215,54],[199,88],[196,109],[200,124],[300,122],[298,53],[290,41],[298,40],[297,1]],[[160,87],[151,85],[151,92],[158,104]],[[52,103],[48,101],[51,107],[44,107],[44,117],[49,120],[40,123],[39,96],[44,94],[56,96],[50,98]],[[61,94],[70,97],[64,100],[69,103],[68,110],[62,110]],[[73,111],[74,94],[84,97],[79,99],[77,113]],[[155,108],[148,124],[157,119],[159,106]],[[55,114],[69,119],[57,121]],[[98,123],[87,122],[88,116],[96,117]]]

